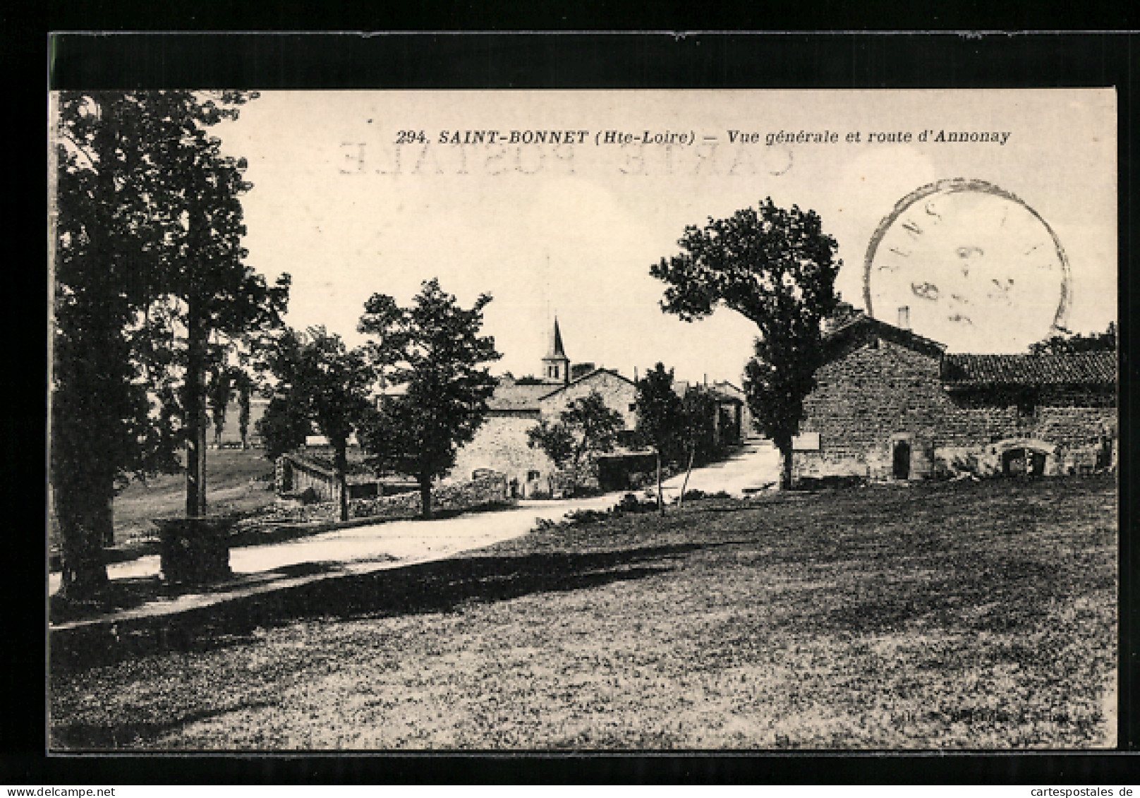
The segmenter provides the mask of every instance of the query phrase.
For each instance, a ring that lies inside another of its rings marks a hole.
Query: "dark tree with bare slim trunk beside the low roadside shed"
[[[270,368],[280,385],[262,418],[268,448],[295,448],[304,442],[306,427],[316,425],[333,449],[341,521],[348,521],[349,439],[372,407],[368,394],[375,382],[364,351],[350,351],[324,327],[290,329],[270,356]]]

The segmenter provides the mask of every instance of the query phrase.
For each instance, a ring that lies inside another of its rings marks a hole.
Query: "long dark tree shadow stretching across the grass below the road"
[[[50,670],[56,678],[152,653],[209,651],[239,643],[259,627],[296,620],[450,612],[469,602],[641,579],[671,570],[669,560],[702,547],[676,544],[583,554],[469,556],[321,579],[178,614],[54,630]]]

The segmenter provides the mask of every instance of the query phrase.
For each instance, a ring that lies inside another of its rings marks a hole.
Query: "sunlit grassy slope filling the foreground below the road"
[[[54,748],[1115,743],[1110,478],[707,500],[54,633]]]

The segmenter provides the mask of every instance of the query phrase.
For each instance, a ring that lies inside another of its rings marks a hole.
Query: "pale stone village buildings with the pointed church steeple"
[[[554,487],[554,463],[542,449],[527,445],[527,433],[544,420],[556,421],[571,401],[593,391],[621,414],[627,431],[634,429],[637,399],[634,383],[593,364],[571,365],[555,320],[551,345],[542,361],[540,382],[500,380],[487,401],[487,416],[474,440],[459,449],[450,479],[471,479],[477,471],[489,469],[506,474],[514,496],[549,494]]]

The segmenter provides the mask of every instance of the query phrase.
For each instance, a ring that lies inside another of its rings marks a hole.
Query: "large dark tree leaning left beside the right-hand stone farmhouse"
[[[724,304],[751,320],[760,335],[746,367],[746,391],[757,427],[780,450],[780,484],[791,484],[791,441],[804,417],[822,360],[821,321],[838,301],[834,238],[814,211],[758,209],[689,226],[682,253],[650,272],[668,284],[661,308],[685,321]]]

